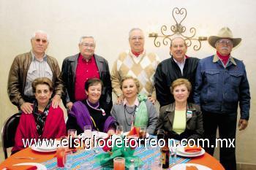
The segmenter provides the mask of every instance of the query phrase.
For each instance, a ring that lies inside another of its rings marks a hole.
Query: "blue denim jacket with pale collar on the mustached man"
[[[238,104],[241,119],[249,119],[249,82],[244,63],[230,59],[224,67],[217,55],[200,60],[195,77],[194,101],[206,112],[234,114]]]

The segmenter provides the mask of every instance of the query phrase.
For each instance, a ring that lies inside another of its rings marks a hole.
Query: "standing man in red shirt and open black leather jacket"
[[[100,106],[105,112],[112,108],[112,88],[108,61],[94,54],[95,40],[93,36],[82,36],[78,44],[80,53],[64,59],[61,69],[66,95],[64,105],[71,109],[75,101],[87,98],[85,83],[90,78],[99,78],[103,82],[102,96],[99,98]]]

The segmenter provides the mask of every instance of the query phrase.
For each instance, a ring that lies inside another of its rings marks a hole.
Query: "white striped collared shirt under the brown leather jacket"
[[[31,51],[32,61],[29,66],[28,73],[26,74],[26,85],[24,88],[24,94],[26,96],[34,96],[32,90],[32,82],[38,77],[48,77],[53,80],[53,72],[47,63],[47,55],[43,56],[42,61],[39,61],[34,53]]]

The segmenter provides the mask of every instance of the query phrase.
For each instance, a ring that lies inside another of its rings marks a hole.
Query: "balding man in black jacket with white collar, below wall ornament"
[[[157,93],[157,101],[160,107],[174,102],[173,94],[170,93],[170,85],[178,78],[189,80],[192,89],[195,84],[195,72],[197,70],[198,58],[189,57],[187,44],[181,37],[176,37],[170,44],[170,58],[158,64],[154,74],[154,86]],[[193,90],[190,93],[189,102],[193,102]]]

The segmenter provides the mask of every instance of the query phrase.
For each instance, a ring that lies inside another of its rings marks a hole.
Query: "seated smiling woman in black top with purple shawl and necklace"
[[[91,125],[93,131],[102,131],[113,134],[116,129],[116,120],[110,113],[99,106],[103,83],[97,78],[86,81],[86,101],[76,101],[68,114],[67,130],[76,129],[78,134],[83,133],[85,125]]]

